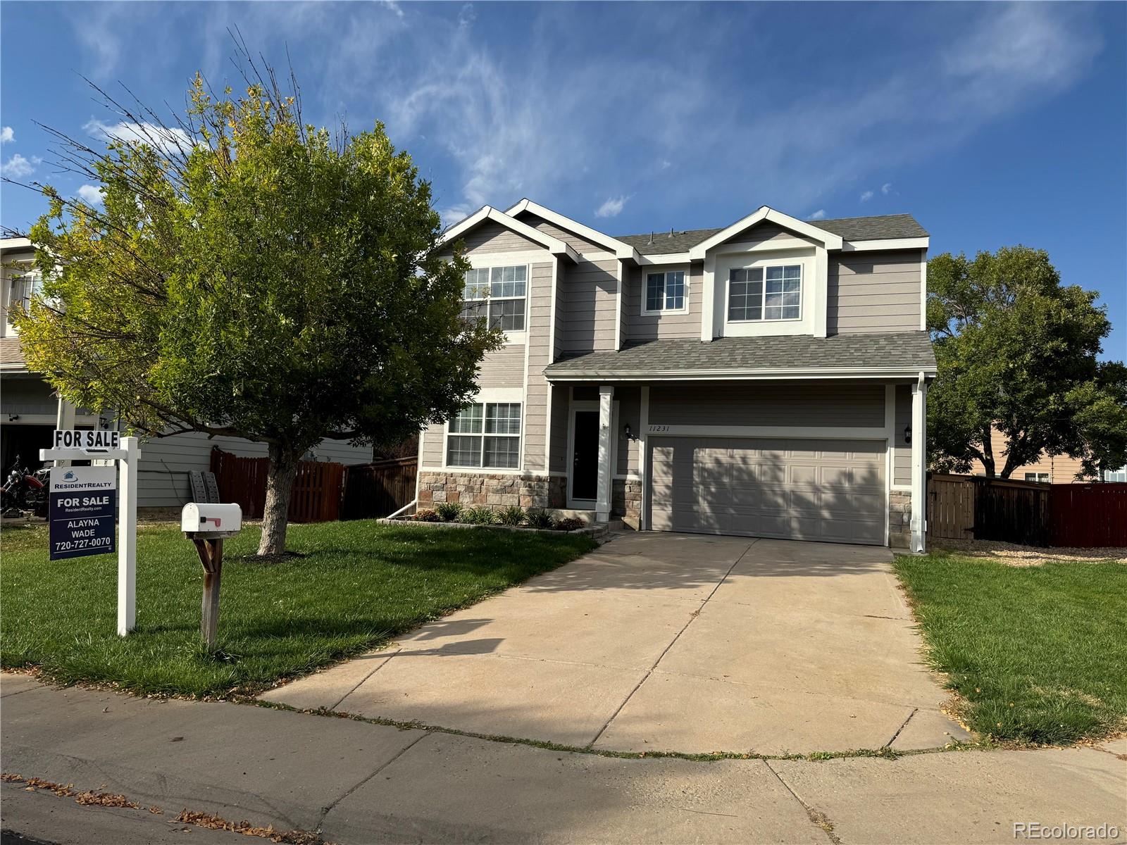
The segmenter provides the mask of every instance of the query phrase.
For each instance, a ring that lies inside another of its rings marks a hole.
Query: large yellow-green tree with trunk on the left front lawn
[[[104,201],[37,186],[43,296],[17,323],[77,404],[149,437],[266,444],[258,551],[277,554],[307,450],[446,418],[499,337],[461,319],[468,264],[438,256],[429,185],[383,126],[305,125],[295,86],[249,75],[240,96],[197,77],[172,123],[109,99],[126,130],[105,150],[60,135]]]

